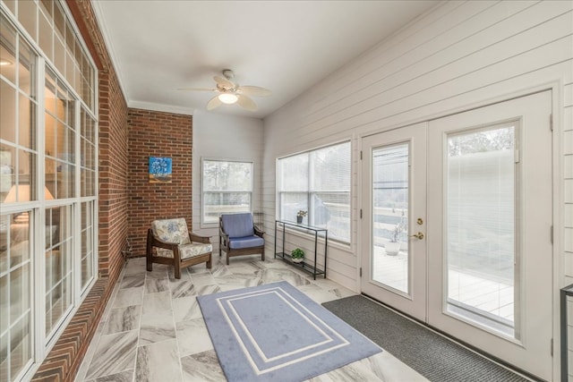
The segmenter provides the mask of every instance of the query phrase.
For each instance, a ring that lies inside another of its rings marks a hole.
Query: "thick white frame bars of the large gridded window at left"
[[[95,184],[94,184],[94,194],[86,197],[81,197],[81,184],[80,184],[80,173],[81,173],[81,151],[80,151],[80,135],[81,135],[81,123],[80,123],[80,107],[83,107],[87,115],[95,122],[95,157],[94,161],[98,163],[98,71],[96,64],[94,63],[92,57],[89,54],[89,49],[85,45],[85,42],[81,38],[81,33],[77,25],[73,20],[73,16],[70,13],[67,5],[63,1],[56,0],[62,5],[62,10],[64,11],[64,16],[66,20],[66,25],[69,25],[73,29],[74,42],[79,44],[85,53],[85,59],[87,64],[90,65],[91,72],[93,74],[93,88],[90,89],[90,99],[89,104],[81,97],[82,95],[78,91],[77,87],[70,84],[65,74],[56,69],[56,65],[47,59],[47,52],[43,52],[41,47],[39,47],[38,42],[38,28],[36,33],[31,35],[28,30],[21,24],[19,19],[12,13],[12,11],[5,6],[4,3],[0,4],[0,9],[4,14],[5,18],[11,22],[14,30],[18,32],[22,41],[25,41],[33,51],[33,55],[36,60],[36,65],[34,68],[34,76],[36,81],[32,85],[35,89],[35,94],[37,95],[38,104],[36,106],[35,114],[35,125],[36,130],[36,151],[37,163],[35,168],[36,180],[36,194],[38,198],[36,200],[31,200],[27,202],[19,203],[7,203],[2,204],[2,213],[13,214],[22,211],[30,211],[30,231],[32,231],[30,241],[31,241],[31,252],[30,260],[32,261],[32,270],[30,277],[33,278],[33,282],[30,282],[30,307],[32,310],[31,323],[30,323],[30,335],[31,335],[31,360],[27,363],[20,371],[17,371],[17,375],[12,375],[11,378],[17,378],[17,380],[28,380],[32,378],[41,365],[41,363],[47,357],[47,354],[51,351],[53,346],[56,344],[60,335],[64,332],[65,327],[68,326],[69,322],[73,318],[73,314],[81,306],[82,301],[85,299],[87,294],[90,292],[91,287],[96,283],[98,279],[98,167],[95,167]],[[31,4],[31,2],[30,2]],[[54,4],[56,6],[56,4]],[[36,22],[38,18],[47,17],[42,10],[39,3],[34,3],[36,13]],[[5,12],[4,12],[5,11]],[[69,22],[69,24],[68,24]],[[54,26],[52,25],[52,28]],[[77,45],[76,45],[77,47]],[[65,49],[65,47],[64,47]],[[67,54],[67,50],[64,53]],[[49,53],[49,52],[48,52]],[[67,62],[66,62],[67,64]],[[51,71],[56,74],[59,81],[62,81],[64,86],[70,91],[74,102],[73,110],[73,145],[75,148],[76,156],[73,159],[75,165],[76,176],[73,183],[73,188],[75,194],[73,197],[66,199],[44,199],[42,197],[46,179],[46,171],[44,168],[45,163],[45,78],[46,78],[46,67],[49,67]],[[11,145],[13,146],[13,145]],[[92,217],[92,235],[90,237],[90,243],[92,245],[92,250],[94,255],[91,257],[90,262],[93,269],[93,274],[90,280],[81,285],[81,277],[79,272],[81,272],[80,257],[77,256],[81,251],[81,231],[79,225],[75,223],[80,221],[79,208],[82,202],[93,202],[94,210]],[[45,236],[46,236],[46,226],[42,223],[45,221],[47,208],[58,208],[63,206],[69,206],[71,208],[70,216],[72,225],[72,242],[70,242],[69,250],[71,251],[72,264],[70,265],[70,271],[72,272],[72,291],[70,291],[70,296],[72,303],[63,312],[60,318],[58,318],[56,326],[47,333],[47,327],[45,325],[46,318],[46,246],[45,246]],[[83,287],[82,287],[83,286]]]

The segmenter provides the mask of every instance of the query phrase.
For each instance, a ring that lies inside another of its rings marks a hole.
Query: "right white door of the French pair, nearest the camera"
[[[429,123],[429,319],[552,378],[551,92]]]

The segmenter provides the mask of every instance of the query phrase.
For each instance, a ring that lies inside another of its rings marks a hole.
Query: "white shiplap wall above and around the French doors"
[[[265,119],[265,225],[274,222],[278,157],[352,140],[352,244],[329,247],[328,272],[329,278],[357,292],[360,137],[531,90],[553,89],[560,134],[555,140],[561,190],[556,248],[563,264],[560,283],[569,276],[573,282],[572,33],[571,1],[449,1],[312,84]],[[269,232],[269,246],[271,236]]]

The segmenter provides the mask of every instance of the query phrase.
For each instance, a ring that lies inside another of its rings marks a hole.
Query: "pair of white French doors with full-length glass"
[[[363,293],[548,380],[551,110],[547,91],[363,139]]]

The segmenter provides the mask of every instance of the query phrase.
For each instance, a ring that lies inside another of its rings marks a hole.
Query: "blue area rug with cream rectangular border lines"
[[[197,300],[229,381],[302,381],[382,351],[286,281]]]

